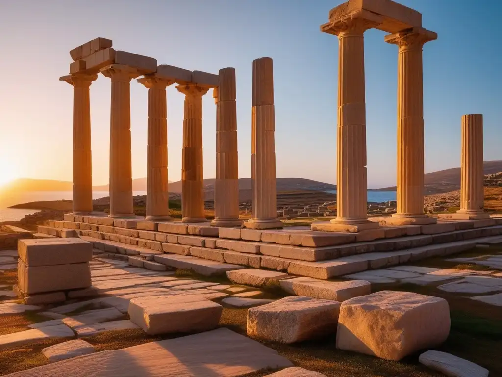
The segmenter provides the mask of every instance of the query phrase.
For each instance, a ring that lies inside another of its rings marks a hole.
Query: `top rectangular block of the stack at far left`
[[[18,241],[19,258],[29,266],[82,263],[92,260],[92,244],[80,238]]]

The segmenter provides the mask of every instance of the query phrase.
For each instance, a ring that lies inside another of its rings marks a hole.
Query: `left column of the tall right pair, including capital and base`
[[[324,230],[358,232],[378,228],[367,219],[364,31],[381,17],[359,13],[330,20],[321,31],[338,37],[338,124],[336,219]]]

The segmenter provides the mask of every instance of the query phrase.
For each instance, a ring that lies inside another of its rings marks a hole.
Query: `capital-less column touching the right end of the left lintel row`
[[[237,163],[237,110],[235,68],[219,70],[216,95],[216,181],[214,182],[214,226],[240,226],[239,176]]]

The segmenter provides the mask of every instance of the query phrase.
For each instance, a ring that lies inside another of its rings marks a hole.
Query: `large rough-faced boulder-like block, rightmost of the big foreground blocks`
[[[381,291],[342,303],[336,347],[397,361],[420,349],[440,345],[449,332],[446,300]]]

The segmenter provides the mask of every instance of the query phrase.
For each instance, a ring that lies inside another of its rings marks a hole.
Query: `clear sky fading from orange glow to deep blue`
[[[252,62],[274,60],[278,177],[336,181],[339,0],[0,1],[0,174],[72,178],[68,51],[96,37],[158,64],[235,67],[239,176],[250,176]],[[484,159],[502,159],[499,0],[401,0],[438,33],[424,46],[426,172],[459,166],[460,118],[484,116]],[[396,179],[397,46],[365,33],[368,186]],[[91,86],[93,183],[108,181],[110,80]],[[169,179],[181,178],[183,99],[168,87]],[[204,176],[215,176],[215,105],[204,97]],[[146,176],[147,89],[131,83],[133,177]]]

